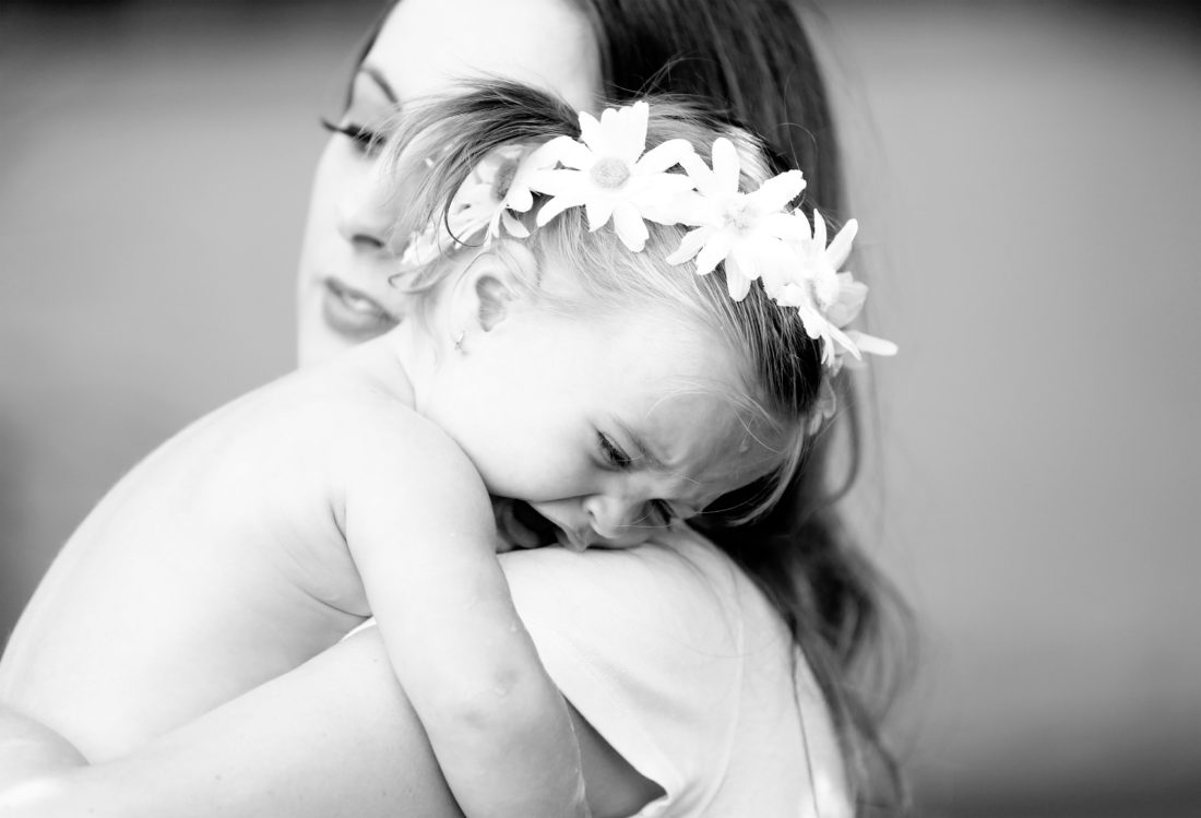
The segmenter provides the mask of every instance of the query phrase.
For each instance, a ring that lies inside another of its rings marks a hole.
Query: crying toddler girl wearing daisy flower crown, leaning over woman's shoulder
[[[95,686],[48,673],[30,691],[0,667],[0,698],[103,760],[374,615],[467,814],[585,814],[489,495],[576,550],[635,545],[701,509],[751,517],[832,411],[844,357],[892,347],[843,329],[866,294],[837,271],[854,222],[826,246],[820,215],[789,209],[801,174],[771,175],[751,135],[694,107],[598,121],[478,86],[416,114],[393,154],[398,178],[422,179],[396,228],[412,315],[131,471],[8,647],[8,668],[44,671],[103,639]],[[755,507],[718,502],[751,484]],[[56,620],[60,593],[94,615]]]

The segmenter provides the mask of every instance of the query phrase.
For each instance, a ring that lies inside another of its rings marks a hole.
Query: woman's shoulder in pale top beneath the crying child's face
[[[637,549],[540,549],[503,565],[563,694],[665,790],[641,814],[799,814],[817,790],[842,792],[803,657],[715,545],[683,530]],[[842,814],[829,805],[820,814]]]

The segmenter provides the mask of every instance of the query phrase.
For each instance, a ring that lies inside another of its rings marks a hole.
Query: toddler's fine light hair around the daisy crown
[[[754,190],[775,174],[763,143],[698,102],[679,96],[649,98],[646,149],[682,138],[711,162],[718,137],[737,149],[741,190]],[[395,231],[407,237],[441,221],[449,229],[455,192],[489,154],[507,145],[533,147],[558,136],[575,137],[578,114],[542,91],[507,82],[473,83],[466,92],[410,109],[396,125],[389,145],[390,178],[406,180]],[[414,181],[416,180],[416,181]],[[776,441],[777,466],[753,498],[740,508],[710,509],[743,521],[769,509],[800,467],[808,448],[807,425],[821,378],[820,347],[807,335],[795,310],[772,301],[759,286],[742,300],[730,298],[721,265],[695,275],[695,263],[667,261],[687,232],[683,225],[649,222],[650,237],[640,252],[628,250],[611,227],[590,231],[585,210],[568,208],[542,227],[533,227],[538,209],[525,214],[531,235],[524,239],[540,268],[554,264],[572,270],[585,303],[563,304],[539,288],[537,280],[516,277],[531,297],[550,306],[623,311],[668,308],[735,354],[741,363],[743,394],[727,394],[751,434],[763,430]],[[443,252],[398,274],[411,292],[431,289],[453,269],[452,259],[483,246],[483,232],[452,237]],[[759,435],[755,435],[759,436]]]

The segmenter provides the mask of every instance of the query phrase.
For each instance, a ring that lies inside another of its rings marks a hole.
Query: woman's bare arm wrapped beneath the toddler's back
[[[573,711],[588,804],[628,816],[659,794]],[[520,752],[520,748],[514,748]],[[0,816],[327,818],[459,811],[375,628],[120,760],[0,794]]]

